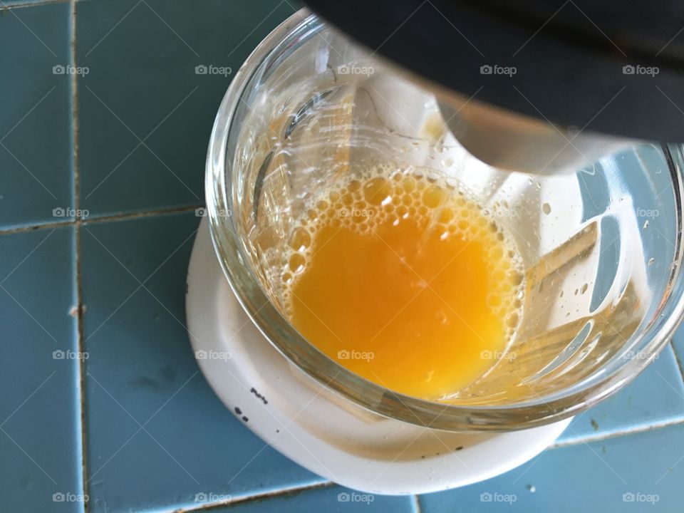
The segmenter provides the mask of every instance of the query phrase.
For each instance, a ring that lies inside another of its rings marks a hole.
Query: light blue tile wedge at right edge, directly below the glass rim
[[[684,385],[672,348],[613,397],[578,415],[559,437],[569,442],[684,419]]]

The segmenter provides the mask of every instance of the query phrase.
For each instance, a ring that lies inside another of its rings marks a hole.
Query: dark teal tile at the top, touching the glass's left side
[[[77,4],[81,202],[90,214],[204,202],[219,103],[287,1]],[[197,74],[197,66],[224,74]],[[228,69],[229,68],[229,69]],[[230,72],[230,73],[229,73]]]

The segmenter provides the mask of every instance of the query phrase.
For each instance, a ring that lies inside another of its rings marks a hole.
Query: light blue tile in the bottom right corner
[[[423,513],[682,511],[684,429],[547,450],[471,486],[420,497]]]

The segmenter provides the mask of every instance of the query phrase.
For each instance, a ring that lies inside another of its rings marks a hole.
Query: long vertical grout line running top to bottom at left
[[[76,69],[76,0],[69,0],[69,24],[71,29],[71,66]],[[83,338],[83,279],[81,277],[81,175],[78,152],[78,75],[71,74],[71,165],[73,170],[73,204],[76,237],[76,319],[78,352],[86,353]],[[88,447],[86,445],[86,359],[78,358],[78,392],[81,406],[81,487],[83,497],[88,497]],[[83,502],[83,512],[88,512],[88,501]]]

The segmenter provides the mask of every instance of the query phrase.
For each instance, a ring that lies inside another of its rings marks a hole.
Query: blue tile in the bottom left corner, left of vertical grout
[[[1,512],[83,510],[73,247],[71,227],[0,236]]]

